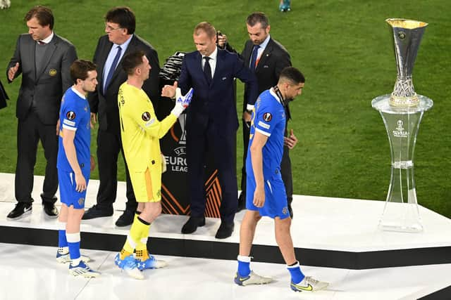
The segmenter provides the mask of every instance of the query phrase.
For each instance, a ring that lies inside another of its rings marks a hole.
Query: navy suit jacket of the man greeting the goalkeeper
[[[257,79],[237,54],[218,49],[216,69],[210,84],[202,70],[202,55],[199,51],[185,54],[178,86],[183,94],[190,87],[194,89],[191,104],[187,108],[187,130],[203,132],[210,122],[221,135],[235,134],[238,128],[233,84],[235,78],[247,84],[249,92],[246,100],[254,105],[258,96]]]

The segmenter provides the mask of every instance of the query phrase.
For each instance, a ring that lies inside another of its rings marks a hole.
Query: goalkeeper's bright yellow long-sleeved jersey
[[[142,89],[125,81],[118,93],[121,137],[128,171],[158,171],[161,174],[160,141],[177,120],[169,114],[161,122],[154,106]]]

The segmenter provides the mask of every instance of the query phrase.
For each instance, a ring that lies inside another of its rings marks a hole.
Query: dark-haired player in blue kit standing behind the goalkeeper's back
[[[58,218],[56,261],[69,262],[69,273],[85,278],[100,273],[87,266],[80,255],[80,221],[85,212],[85,197],[91,171],[91,123],[86,95],[97,86],[96,65],[75,60],[70,66],[71,86],[63,95],[59,114],[58,183],[61,213]]]

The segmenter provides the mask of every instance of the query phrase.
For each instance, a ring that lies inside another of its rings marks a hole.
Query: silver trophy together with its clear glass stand
[[[397,78],[393,93],[371,101],[387,129],[392,157],[390,186],[379,228],[410,233],[423,230],[416,201],[414,149],[421,118],[433,101],[415,93],[412,70],[421,37],[428,25],[405,19],[387,19],[393,32]]]

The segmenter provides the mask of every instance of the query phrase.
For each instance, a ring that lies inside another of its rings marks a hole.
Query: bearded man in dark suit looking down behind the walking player
[[[247,32],[249,34],[249,40],[246,41],[245,48],[243,49],[241,56],[245,60],[245,65],[249,66],[252,72],[257,77],[259,84],[259,94],[262,91],[271,89],[276,86],[280,72],[285,67],[291,66],[290,54],[278,41],[271,38],[269,30],[268,18],[264,13],[252,13],[246,20]],[[249,86],[245,85],[245,98],[249,93]],[[243,103],[242,113],[242,131],[243,131],[243,165],[242,165],[242,178],[241,178],[241,190],[242,193],[238,198],[238,210],[246,207],[246,156],[247,145],[249,144],[249,131],[251,110],[246,102]],[[288,119],[291,118],[290,108],[285,106],[285,111]],[[287,134],[287,128],[285,127],[285,145],[283,147],[283,158],[280,164],[280,173],[282,174],[283,182],[285,183],[285,190],[287,192],[288,209],[290,210],[290,216],[292,216],[292,174],[291,174],[291,162],[289,156],[289,149],[292,149],[297,143],[297,138],[290,131],[290,135]]]

